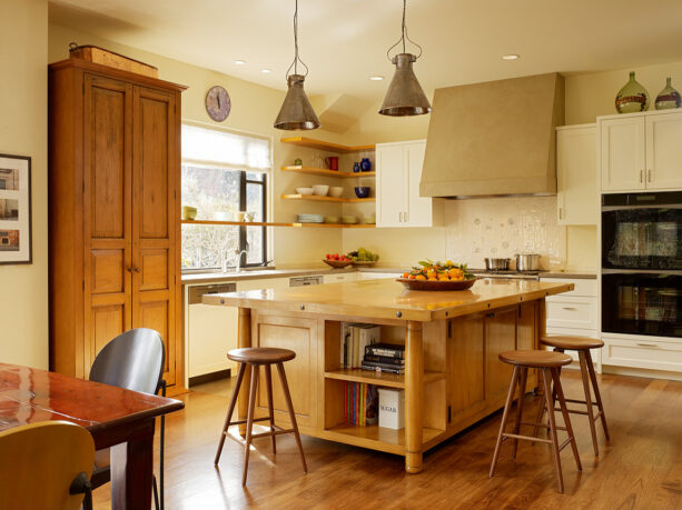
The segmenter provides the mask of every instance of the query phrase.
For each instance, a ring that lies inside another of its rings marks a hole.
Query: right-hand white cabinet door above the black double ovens
[[[646,117],[646,189],[682,188],[682,113]]]

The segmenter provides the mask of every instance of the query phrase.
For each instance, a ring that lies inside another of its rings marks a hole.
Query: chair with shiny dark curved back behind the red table
[[[166,397],[166,381],[162,379],[166,353],[158,331],[138,328],[119,334],[107,343],[95,358],[90,368],[90,380],[105,384]],[[157,510],[164,510],[164,447],[166,417],[161,416],[159,448],[159,489],[154,476],[154,502]],[[95,454],[92,488],[111,480],[109,449]]]

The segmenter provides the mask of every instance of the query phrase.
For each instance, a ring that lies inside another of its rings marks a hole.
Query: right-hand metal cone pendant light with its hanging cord
[[[382,102],[382,108],[379,108],[379,113],[383,116],[405,117],[431,112],[431,103],[426,99],[424,90],[422,90],[422,86],[412,69],[412,64],[422,57],[422,47],[407,36],[407,27],[405,26],[406,3],[407,0],[403,0],[403,34],[386,51],[386,57],[395,64],[395,73],[384,97],[384,102]],[[407,52],[405,48],[407,41],[419,49],[419,54]],[[403,52],[391,58],[391,50],[401,43],[403,44]]]

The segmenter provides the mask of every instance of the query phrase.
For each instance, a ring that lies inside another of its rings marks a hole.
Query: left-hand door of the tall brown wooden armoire
[[[83,373],[130,329],[132,87],[86,76],[83,89]],[[71,247],[60,247],[69,250]]]

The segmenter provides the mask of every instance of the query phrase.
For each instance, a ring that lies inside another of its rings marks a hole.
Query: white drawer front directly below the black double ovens
[[[682,342],[604,338],[604,364],[682,372]]]

